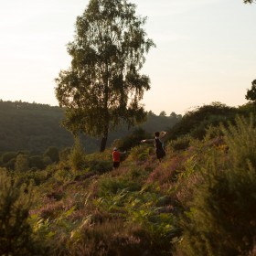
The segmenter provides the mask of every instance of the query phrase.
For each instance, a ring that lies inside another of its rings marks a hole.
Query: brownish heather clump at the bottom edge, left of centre
[[[150,240],[144,233],[144,229],[138,225],[122,219],[107,219],[94,225],[84,221],[79,233],[73,232],[69,253],[85,256],[141,256],[150,247]]]

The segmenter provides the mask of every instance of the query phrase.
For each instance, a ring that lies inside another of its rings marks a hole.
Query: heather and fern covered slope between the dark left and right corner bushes
[[[86,155],[80,171],[63,162],[50,166],[32,174],[38,184],[33,225],[40,219],[37,229],[50,238],[45,242],[52,254],[169,255],[181,235],[179,197],[190,193],[176,180],[195,155],[197,149],[173,152],[169,147],[158,163],[153,147],[143,145],[133,148],[117,170],[109,150]]]

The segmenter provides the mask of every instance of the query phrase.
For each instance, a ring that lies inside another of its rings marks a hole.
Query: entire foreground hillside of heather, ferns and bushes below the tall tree
[[[2,167],[0,255],[256,255],[252,110],[188,112],[161,163],[138,144],[112,170],[111,148],[86,154],[77,140],[42,170]]]

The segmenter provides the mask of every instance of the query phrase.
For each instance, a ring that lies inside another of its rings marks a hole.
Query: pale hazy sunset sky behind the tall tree
[[[59,105],[54,79],[89,0],[0,0],[0,99]],[[242,0],[132,0],[156,48],[143,73],[144,108],[184,114],[220,101],[239,106],[256,79],[256,5]]]

